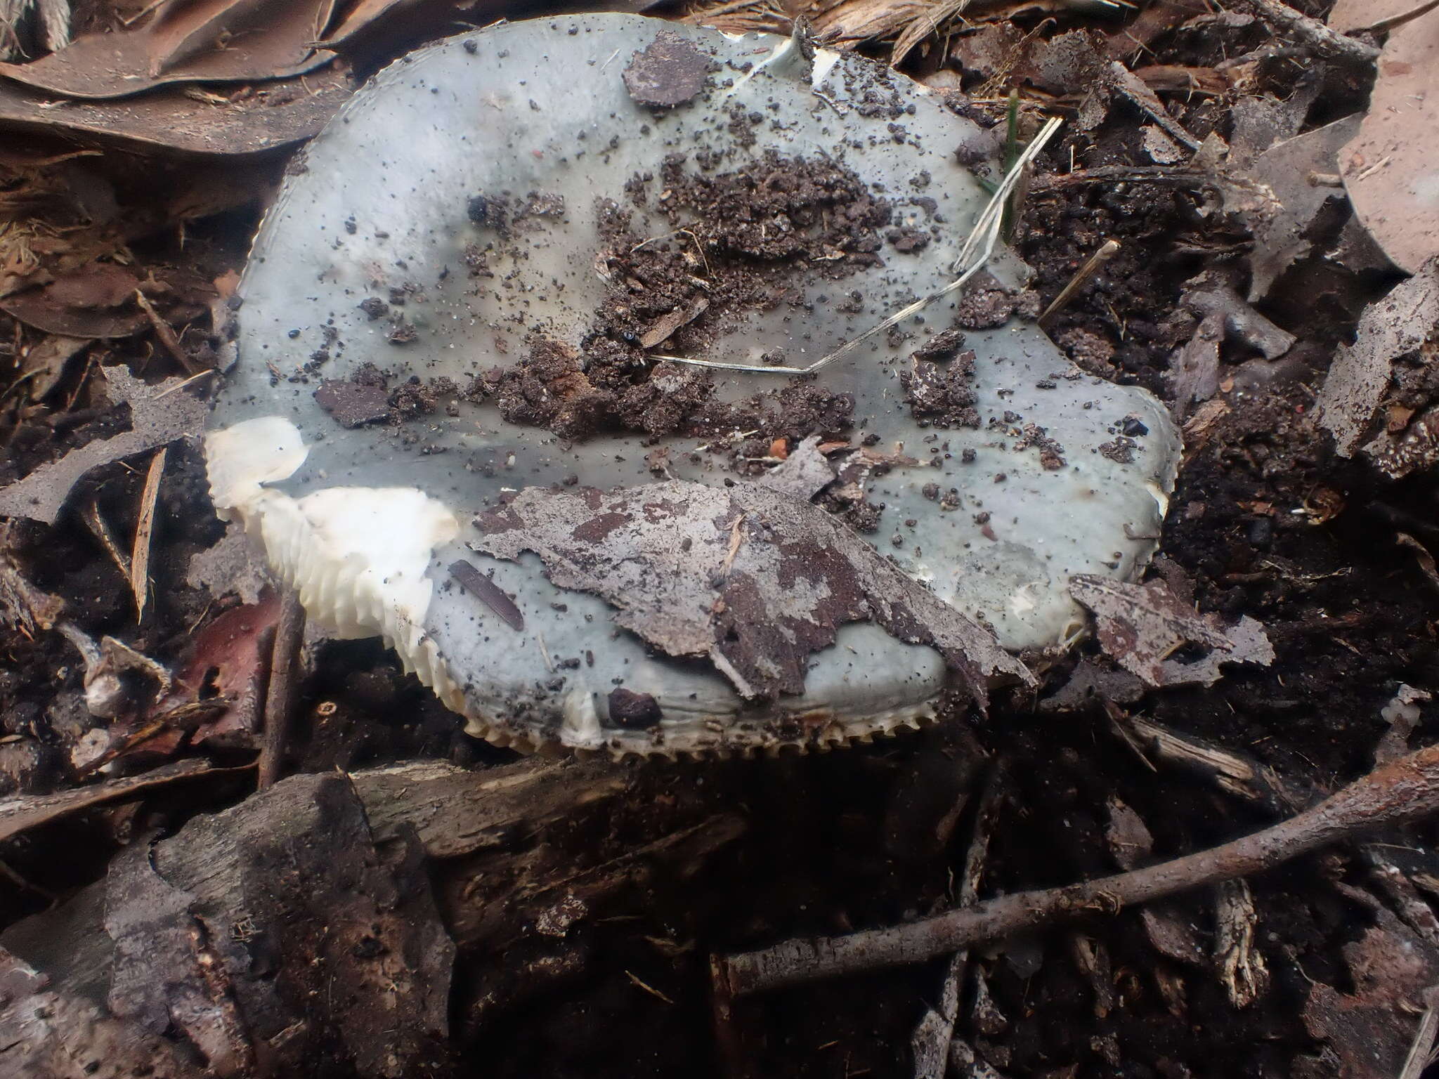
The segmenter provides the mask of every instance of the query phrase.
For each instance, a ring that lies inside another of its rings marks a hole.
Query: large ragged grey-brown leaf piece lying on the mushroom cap
[[[602,596],[617,624],[671,656],[708,656],[747,698],[803,692],[810,655],[861,620],[937,649],[980,705],[991,675],[1033,683],[993,633],[859,535],[757,483],[525,488],[475,525],[476,550],[538,554],[551,581]]]

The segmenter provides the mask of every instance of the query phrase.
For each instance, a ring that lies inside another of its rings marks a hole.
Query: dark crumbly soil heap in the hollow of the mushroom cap
[[[879,263],[889,201],[829,160],[771,152],[744,171],[707,165],[669,155],[633,176],[623,201],[596,204],[594,266],[609,295],[578,348],[541,338],[518,363],[485,373],[484,391],[507,422],[571,440],[599,432],[658,439],[750,430],[768,440],[848,433],[853,401],[843,394],[796,381],[721,401],[709,371],[665,357],[704,350],[753,312],[799,305],[800,286],[814,278],[842,282]],[[658,210],[669,232],[637,235],[630,222],[640,206]],[[786,357],[777,350],[764,361]]]

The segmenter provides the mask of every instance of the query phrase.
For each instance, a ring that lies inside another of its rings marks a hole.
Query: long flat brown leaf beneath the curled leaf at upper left
[[[256,154],[318,134],[354,82],[338,63],[301,79],[245,89],[224,104],[161,89],[127,101],[53,99],[0,81],[0,124],[32,131],[102,137],[196,154]]]

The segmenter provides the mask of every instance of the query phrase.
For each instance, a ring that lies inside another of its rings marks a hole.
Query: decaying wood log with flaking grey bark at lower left
[[[737,814],[684,820],[577,863],[555,837],[603,826],[632,778],[540,760],[296,775],[140,842],[0,935],[0,1073],[78,1078],[104,1059],[98,1075],[298,1075],[328,1059],[443,1076],[456,945],[479,960],[521,945],[492,977],[479,964],[473,1023],[528,991],[525,955],[637,906],[656,865],[684,873],[744,830]]]

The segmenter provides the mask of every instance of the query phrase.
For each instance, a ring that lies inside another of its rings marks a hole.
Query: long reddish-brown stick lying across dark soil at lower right
[[[712,971],[725,996],[741,997],[836,974],[922,962],[1059,918],[1118,914],[1190,888],[1258,873],[1357,833],[1407,824],[1436,810],[1439,745],[1432,745],[1376,768],[1314,809],[1210,850],[1099,880],[1017,892],[888,929],[791,939],[715,960]]]

